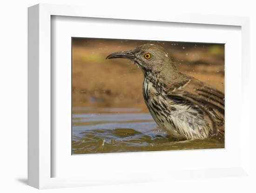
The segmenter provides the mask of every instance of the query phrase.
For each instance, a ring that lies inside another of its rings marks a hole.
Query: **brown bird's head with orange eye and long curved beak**
[[[160,45],[144,44],[137,46],[132,51],[115,52],[107,56],[111,58],[126,58],[133,60],[135,64],[143,71],[144,75],[148,73],[159,74],[162,71],[176,71],[171,62],[168,53]]]

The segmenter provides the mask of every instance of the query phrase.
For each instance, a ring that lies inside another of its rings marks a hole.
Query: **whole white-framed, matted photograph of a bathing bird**
[[[248,34],[244,17],[29,7],[28,184],[251,180]]]

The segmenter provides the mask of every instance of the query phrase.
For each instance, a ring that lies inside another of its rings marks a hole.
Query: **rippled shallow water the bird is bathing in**
[[[176,141],[135,108],[73,108],[72,154],[224,148],[224,139]]]

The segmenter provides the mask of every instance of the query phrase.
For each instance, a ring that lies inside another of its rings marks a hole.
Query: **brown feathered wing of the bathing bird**
[[[224,124],[224,94],[193,77],[169,84],[168,97],[201,109],[212,121],[213,133],[216,133],[218,124]]]

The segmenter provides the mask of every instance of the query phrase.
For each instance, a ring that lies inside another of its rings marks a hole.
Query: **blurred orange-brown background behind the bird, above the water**
[[[182,73],[224,92],[224,45],[73,38],[73,107],[124,107],[148,111],[142,95],[141,70],[128,59],[105,59],[112,52],[132,50],[145,43],[162,45]]]

